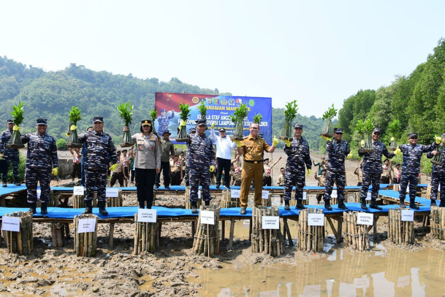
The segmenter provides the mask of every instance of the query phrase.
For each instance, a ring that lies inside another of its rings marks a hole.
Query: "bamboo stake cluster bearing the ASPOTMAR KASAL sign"
[[[322,214],[322,209],[303,209],[299,211],[298,215],[298,240],[297,248],[300,251],[323,251],[324,226],[309,226],[309,214]]]

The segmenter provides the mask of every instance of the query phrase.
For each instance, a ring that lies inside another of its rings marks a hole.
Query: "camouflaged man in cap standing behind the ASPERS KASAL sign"
[[[103,132],[103,118],[93,118],[93,131],[87,131],[79,135],[80,141],[86,142],[85,150],[85,211],[84,214],[93,213],[94,187],[97,187],[97,205],[99,214],[106,216],[105,210],[105,187],[106,170],[108,162],[113,165],[109,168],[114,171],[118,166],[115,144],[111,136]]]

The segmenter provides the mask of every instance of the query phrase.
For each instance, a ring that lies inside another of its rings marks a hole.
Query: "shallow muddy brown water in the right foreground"
[[[435,250],[354,254],[336,250],[325,259],[297,263],[294,267],[233,262],[220,270],[196,272],[201,277],[203,288],[199,293],[203,296],[389,297],[445,293],[445,253]]]

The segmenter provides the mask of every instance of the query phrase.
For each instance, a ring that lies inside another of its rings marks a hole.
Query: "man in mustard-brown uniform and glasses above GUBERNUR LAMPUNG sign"
[[[264,139],[258,137],[259,124],[252,122],[250,124],[250,135],[244,137],[242,141],[234,140],[237,143],[238,154],[243,155],[243,172],[241,175],[240,191],[240,214],[246,214],[247,200],[249,195],[250,183],[253,178],[255,188],[255,206],[261,205],[261,192],[263,189],[263,152],[273,153],[278,139],[273,138],[272,146]]]

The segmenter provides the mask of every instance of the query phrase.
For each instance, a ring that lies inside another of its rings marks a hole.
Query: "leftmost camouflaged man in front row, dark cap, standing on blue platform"
[[[59,158],[57,157],[57,145],[54,137],[46,134],[46,128],[48,127],[46,119],[37,119],[35,127],[37,132],[21,136],[22,143],[28,143],[25,183],[28,191],[27,200],[31,206],[29,211],[33,214],[36,212],[37,182],[40,183],[40,213],[45,215],[48,213],[51,173],[57,175]]]

